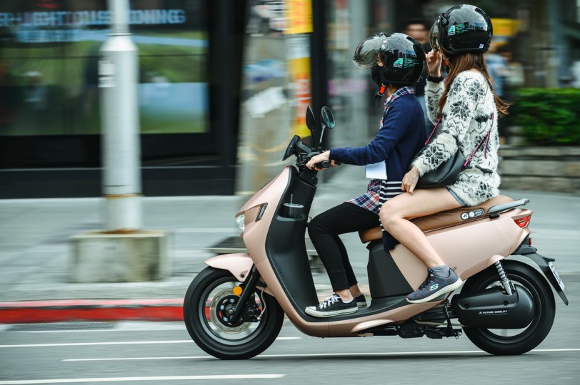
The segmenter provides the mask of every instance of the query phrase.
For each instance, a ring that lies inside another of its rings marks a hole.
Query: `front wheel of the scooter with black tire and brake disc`
[[[226,297],[235,300],[231,289],[238,284],[230,272],[206,267],[197,274],[185,295],[184,322],[189,335],[197,346],[219,359],[257,356],[278,337],[284,322],[284,312],[276,299],[261,290],[254,292],[254,301],[263,314],[259,321],[239,322],[236,327],[220,322],[217,305]]]

